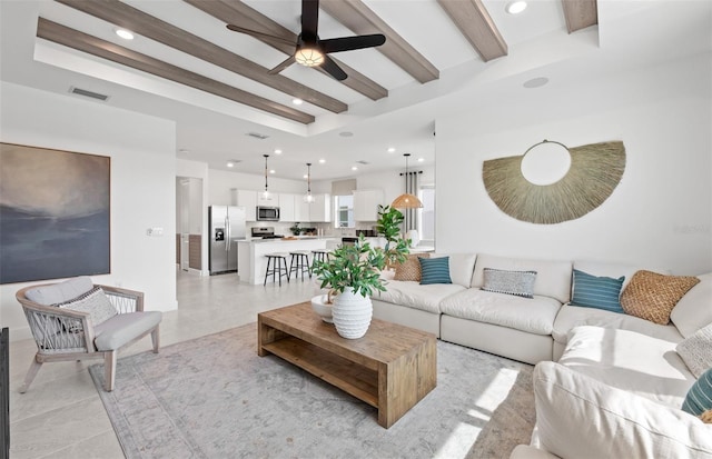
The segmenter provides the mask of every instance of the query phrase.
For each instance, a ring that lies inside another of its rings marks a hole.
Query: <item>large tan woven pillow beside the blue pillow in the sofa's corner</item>
[[[698,283],[700,279],[693,276],[637,271],[621,295],[621,306],[627,315],[664,326],[678,301]]]

